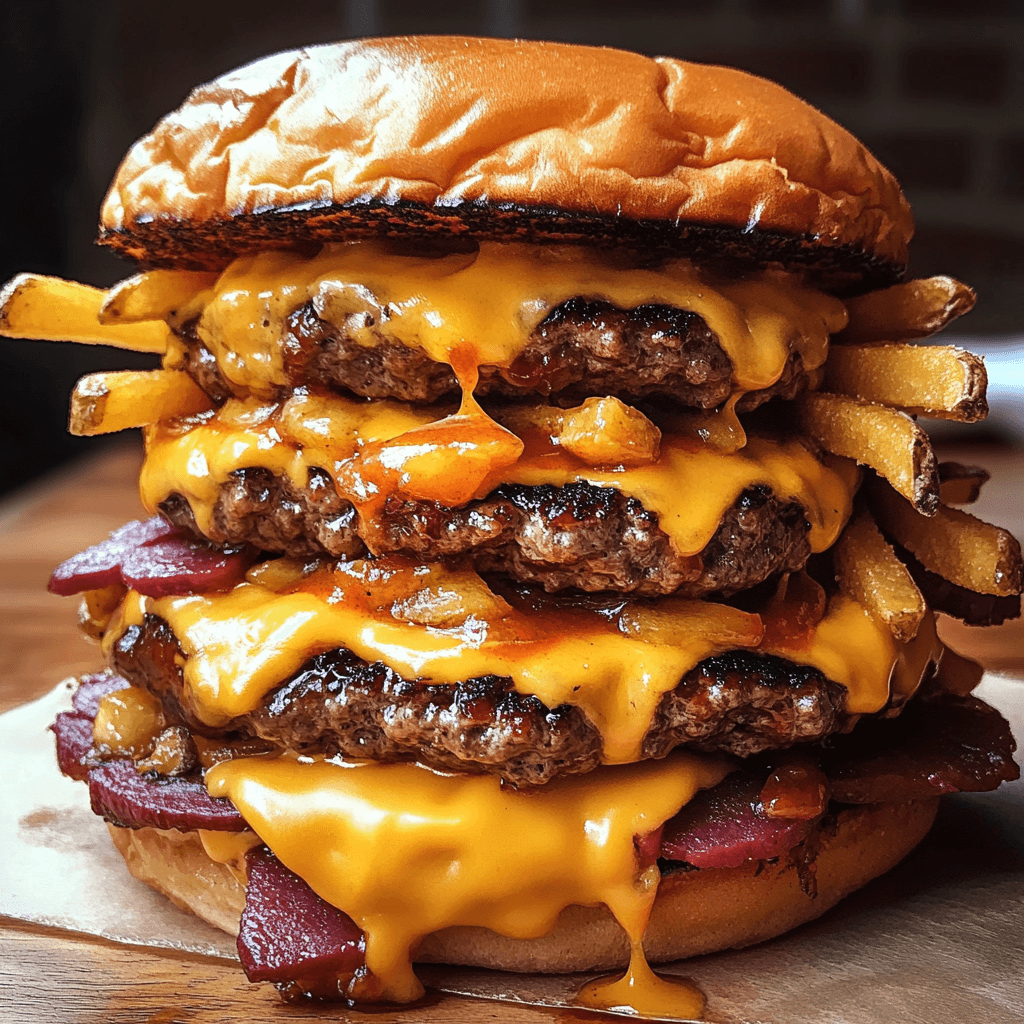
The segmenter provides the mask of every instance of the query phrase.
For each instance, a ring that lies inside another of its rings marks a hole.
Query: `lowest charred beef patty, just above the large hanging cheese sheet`
[[[259,737],[305,753],[375,761],[418,760],[480,770],[516,785],[587,772],[601,760],[597,728],[575,707],[548,708],[512,680],[483,676],[452,685],[403,679],[341,648],[310,658],[262,706],[211,730],[182,693],[182,656],[166,622],[147,615],[114,647],[115,669],[150,690],[168,717],[210,736]],[[818,670],[734,651],[701,662],[662,699],[644,758],[676,746],[748,757],[811,742],[850,722],[846,690]]]

